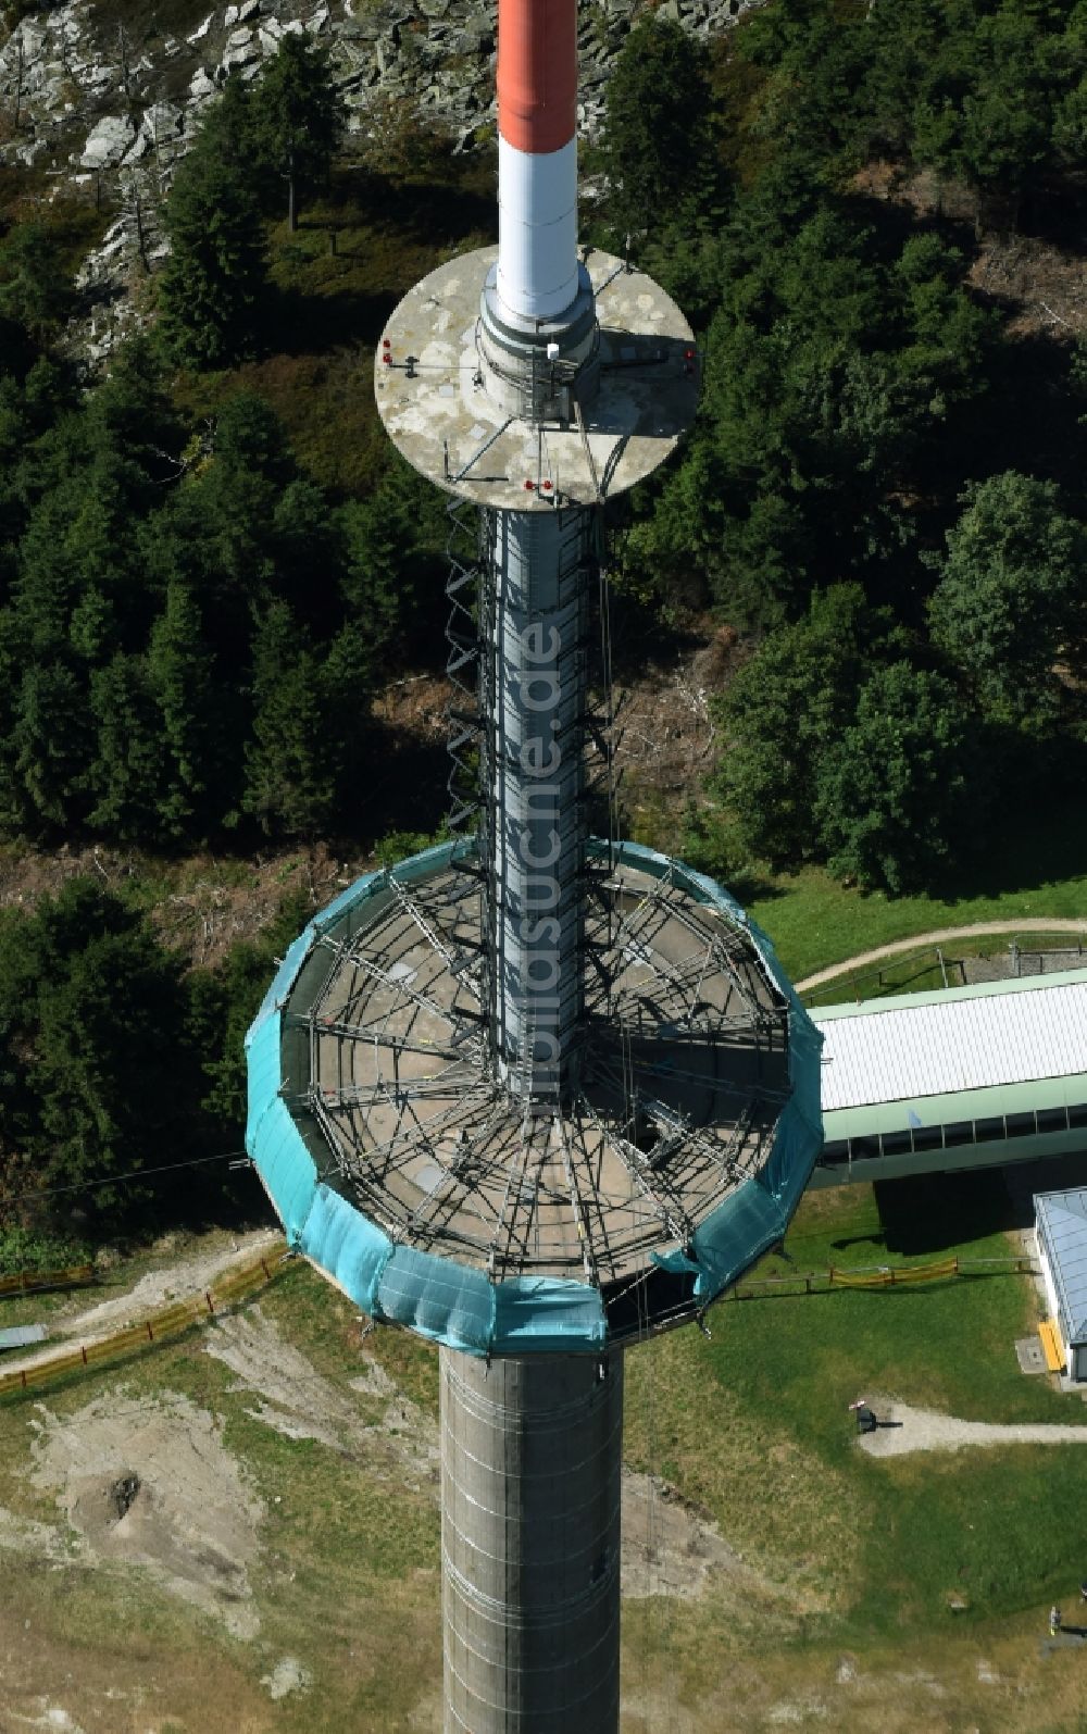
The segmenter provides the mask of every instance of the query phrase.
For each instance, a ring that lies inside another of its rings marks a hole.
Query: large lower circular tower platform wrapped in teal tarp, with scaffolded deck
[[[473,1353],[600,1349],[780,1240],[822,1144],[820,1037],[713,881],[595,848],[577,1087],[494,1077],[478,884],[444,844],[357,881],[248,1037],[246,1143],[290,1242],[366,1313]]]

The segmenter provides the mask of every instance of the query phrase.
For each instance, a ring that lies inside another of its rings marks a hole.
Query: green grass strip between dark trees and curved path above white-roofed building
[[[773,940],[792,980],[929,928],[1019,916],[1087,917],[1087,815],[1028,815],[1028,822],[1009,827],[985,869],[940,895],[863,893],[810,867],[759,883],[745,907]]]

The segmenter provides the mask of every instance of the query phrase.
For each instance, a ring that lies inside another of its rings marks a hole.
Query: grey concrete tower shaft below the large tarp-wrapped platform
[[[622,1356],[440,1353],[446,1734],[615,1734]]]

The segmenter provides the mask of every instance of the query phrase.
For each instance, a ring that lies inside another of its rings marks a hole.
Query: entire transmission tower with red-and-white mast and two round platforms
[[[782,1238],[820,1039],[719,886],[614,836],[600,512],[690,425],[699,357],[659,284],[577,246],[576,0],[499,0],[498,43],[499,244],[418,283],[376,357],[451,496],[459,836],[295,942],[248,1148],[290,1243],[440,1346],[447,1734],[615,1734],[622,1351]]]

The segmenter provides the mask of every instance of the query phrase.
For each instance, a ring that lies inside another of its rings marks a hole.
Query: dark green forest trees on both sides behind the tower
[[[440,668],[447,536],[369,357],[492,238],[492,134],[452,156],[394,116],[348,151],[284,36],[179,165],[102,373],[69,319],[104,218],[28,173],[0,172],[0,839],[369,848],[404,813],[374,695]],[[1087,345],[1002,262],[1087,253],[1087,0],[770,0],[709,47],[647,7],[583,177],[583,238],[629,238],[704,350],[693,434],[607,525],[631,645],[735,645],[683,851],[924,891],[1080,801]],[[201,971],[102,884],[3,914],[5,1257],[135,1221],[151,1190],[109,1176],[238,1146],[241,1033],[303,916]],[[210,1172],[156,1209],[217,1209]],[[29,1198],[88,1181],[75,1229]]]

